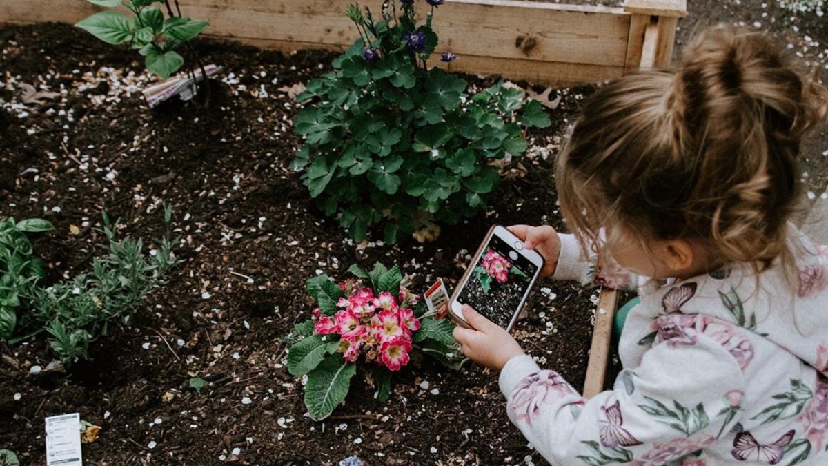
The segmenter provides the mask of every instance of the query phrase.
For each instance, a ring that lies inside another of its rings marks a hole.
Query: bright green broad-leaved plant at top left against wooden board
[[[117,10],[104,10],[84,18],[75,26],[108,44],[129,42],[132,49],[145,57],[147,70],[164,79],[184,65],[184,57],[176,49],[198,36],[208,26],[207,22],[182,16],[178,0],[87,1],[102,7],[124,7],[132,15]],[[161,8],[153,6],[153,3],[161,3],[166,7],[166,19]],[[207,75],[204,70],[202,72],[204,76]]]

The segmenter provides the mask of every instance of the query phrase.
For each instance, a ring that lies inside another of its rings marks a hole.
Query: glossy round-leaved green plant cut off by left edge
[[[39,218],[0,221],[0,339],[12,337],[25,290],[46,278],[46,265],[34,255],[26,233],[54,229]]]

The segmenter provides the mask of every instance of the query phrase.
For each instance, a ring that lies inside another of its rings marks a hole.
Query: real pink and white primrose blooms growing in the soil
[[[392,371],[405,366],[412,351],[412,333],[420,328],[420,321],[408,307],[416,303],[416,295],[400,287],[397,297],[387,291],[375,296],[359,282],[339,284],[339,288],[348,297],[339,299],[339,311],[333,317],[319,308],[313,310],[315,333],[339,335],[337,351],[344,353],[346,361],[356,362],[364,355],[366,361]]]

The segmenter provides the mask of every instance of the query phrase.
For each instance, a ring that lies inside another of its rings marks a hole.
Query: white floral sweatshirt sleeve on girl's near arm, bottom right
[[[551,464],[668,464],[729,434],[744,393],[739,363],[705,335],[657,344],[590,400],[528,356],[499,382],[509,419]]]

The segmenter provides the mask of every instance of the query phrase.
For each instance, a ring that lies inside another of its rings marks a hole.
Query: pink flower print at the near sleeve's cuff
[[[556,371],[540,371],[526,376],[512,392],[512,406],[515,420],[525,420],[532,425],[532,418],[541,412],[543,405],[551,404],[556,398],[575,393],[575,389]],[[578,404],[582,405],[583,400]]]

